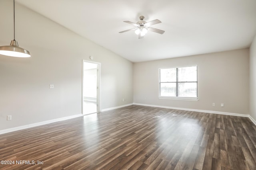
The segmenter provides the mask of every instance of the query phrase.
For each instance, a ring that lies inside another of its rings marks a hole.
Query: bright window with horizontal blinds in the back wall
[[[159,98],[198,100],[197,97],[197,66],[159,69]]]

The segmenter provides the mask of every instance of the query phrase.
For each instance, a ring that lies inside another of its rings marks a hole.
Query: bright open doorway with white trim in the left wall
[[[100,63],[83,60],[82,113],[100,111]]]

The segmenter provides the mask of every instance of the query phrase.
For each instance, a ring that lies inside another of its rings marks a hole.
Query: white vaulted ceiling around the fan
[[[50,20],[132,61],[151,61],[250,47],[256,0],[16,0]],[[138,39],[123,21],[158,19]]]

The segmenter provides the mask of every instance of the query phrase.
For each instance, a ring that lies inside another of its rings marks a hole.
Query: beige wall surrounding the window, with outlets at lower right
[[[158,68],[192,65],[198,65],[199,100],[159,99]],[[249,49],[134,63],[133,76],[134,103],[249,113]]]

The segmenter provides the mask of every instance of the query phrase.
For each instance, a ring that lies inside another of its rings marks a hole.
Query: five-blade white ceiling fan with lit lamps
[[[138,21],[137,23],[133,23],[131,21],[124,21],[126,23],[130,23],[134,26],[136,26],[136,28],[132,28],[132,29],[127,29],[127,30],[124,30],[124,31],[121,31],[119,33],[124,33],[126,31],[132,31],[132,30],[135,30],[135,33],[137,35],[139,35],[139,39],[143,38],[144,35],[148,32],[148,31],[153,31],[153,32],[156,32],[156,33],[160,33],[160,34],[163,34],[164,31],[161,30],[161,29],[156,29],[156,28],[152,28],[150,27],[151,25],[155,25],[157,23],[162,23],[161,21],[159,20],[153,20],[153,21],[149,21],[149,22],[146,22],[146,21],[143,21],[144,20],[144,16],[140,16],[140,21]]]

